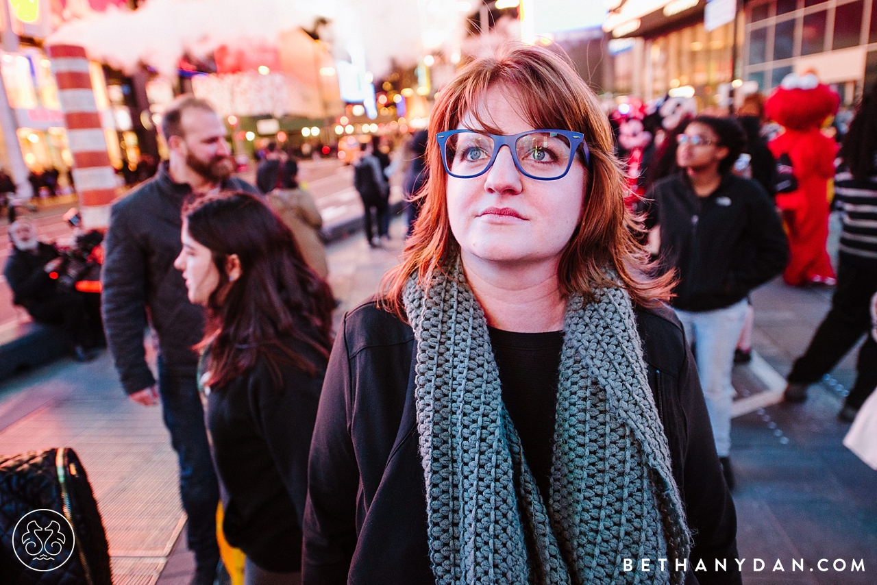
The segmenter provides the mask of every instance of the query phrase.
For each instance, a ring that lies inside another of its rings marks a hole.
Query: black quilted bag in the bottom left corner
[[[0,456],[4,583],[111,585],[95,496],[73,449]]]

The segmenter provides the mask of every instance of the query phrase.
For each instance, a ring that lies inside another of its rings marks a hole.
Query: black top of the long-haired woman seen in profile
[[[301,567],[310,435],[325,371],[325,359],[313,349],[287,344],[320,364],[316,375],[280,365],[278,387],[263,358],[207,398],[213,456],[225,488],[225,539],[259,567],[280,573]]]

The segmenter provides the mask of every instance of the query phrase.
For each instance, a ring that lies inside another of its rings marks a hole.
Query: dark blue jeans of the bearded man
[[[219,564],[219,487],[195,375],[170,375],[159,358],[159,392],[171,446],[180,459],[180,496],[189,516],[189,550],[195,553],[197,582],[212,583]]]

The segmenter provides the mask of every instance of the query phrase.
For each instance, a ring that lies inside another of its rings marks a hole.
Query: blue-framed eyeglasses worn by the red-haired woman
[[[503,146],[509,146],[517,170],[539,181],[554,181],[567,175],[579,146],[588,166],[588,145],[581,132],[531,130],[507,136],[477,130],[448,130],[436,134],[436,139],[447,174],[458,179],[487,173]]]

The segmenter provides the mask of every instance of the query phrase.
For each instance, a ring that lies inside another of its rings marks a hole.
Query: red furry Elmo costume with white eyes
[[[788,284],[834,284],[834,269],[825,249],[828,239],[828,180],[834,177],[838,145],[820,132],[826,118],[838,111],[838,94],[816,75],[789,74],[765,103],[768,118],[782,132],[767,145],[774,157],[788,154],[798,189],[776,196],[788,228],[790,260],[782,277]]]

